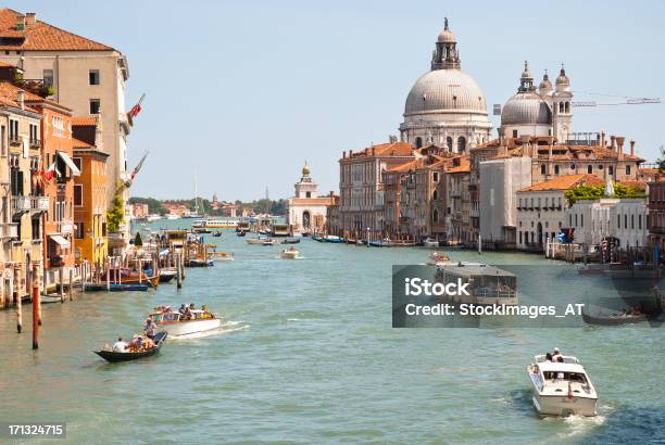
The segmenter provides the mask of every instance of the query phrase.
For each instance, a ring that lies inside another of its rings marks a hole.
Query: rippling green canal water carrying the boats
[[[304,239],[303,259],[281,260],[278,246],[247,245],[230,230],[206,241],[236,260],[187,269],[179,292],[164,284],[45,305],[36,352],[30,306],[20,335],[15,312],[0,312],[1,421],[65,421],[72,443],[665,441],[663,329],[392,329],[391,266],[425,263],[428,250]],[[556,293],[556,280],[539,279]],[[222,314],[223,329],[168,341],[142,361],[91,353],[139,331],[152,307],[190,302]],[[597,418],[535,415],[525,367],[554,346],[586,364]]]

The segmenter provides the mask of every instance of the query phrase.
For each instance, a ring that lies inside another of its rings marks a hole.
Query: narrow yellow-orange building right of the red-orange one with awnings
[[[80,169],[74,182],[75,257],[100,267],[108,253],[106,158],[101,150],[101,128],[96,116],[73,119],[74,163]]]

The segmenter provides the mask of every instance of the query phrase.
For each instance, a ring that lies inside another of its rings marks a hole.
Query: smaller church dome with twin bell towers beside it
[[[563,66],[554,89],[547,73],[536,89],[525,62],[519,88],[501,111],[501,134],[506,138],[554,136],[560,143],[565,143],[570,139],[572,103],[570,80]]]

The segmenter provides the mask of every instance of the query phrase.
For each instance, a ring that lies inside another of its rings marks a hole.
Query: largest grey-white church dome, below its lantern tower
[[[482,90],[461,69],[434,69],[421,76],[406,98],[404,115],[446,111],[487,114]]]

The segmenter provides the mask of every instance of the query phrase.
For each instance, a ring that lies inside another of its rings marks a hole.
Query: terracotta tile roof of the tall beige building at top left
[[[36,21],[20,30],[23,14],[9,8],[0,10],[0,50],[24,51],[112,51],[113,48],[74,33]]]

